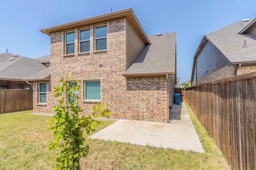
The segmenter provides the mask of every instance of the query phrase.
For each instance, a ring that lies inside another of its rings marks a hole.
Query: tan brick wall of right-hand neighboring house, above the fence
[[[203,84],[210,81],[216,81],[219,79],[224,79],[227,77],[234,76],[234,71],[237,68],[237,65],[231,65],[231,66],[225,66],[221,69],[218,69],[217,71],[214,71],[210,74],[205,75],[204,77],[197,79],[197,84]],[[256,71],[256,65],[242,65],[237,70],[237,75],[244,74],[244,73],[250,73]],[[192,82],[192,85],[196,85],[196,80]]]

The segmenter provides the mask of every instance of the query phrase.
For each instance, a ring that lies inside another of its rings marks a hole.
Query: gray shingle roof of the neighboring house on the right
[[[212,42],[231,63],[256,61],[256,37],[249,34],[238,34],[252,20],[238,21],[220,30],[207,34]],[[241,28],[241,23],[243,27]],[[243,48],[244,40],[248,48]]]

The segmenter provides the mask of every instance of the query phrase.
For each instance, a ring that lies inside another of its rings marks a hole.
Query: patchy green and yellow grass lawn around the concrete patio
[[[90,152],[80,160],[81,169],[230,169],[214,140],[209,137],[191,109],[187,108],[205,153],[86,139]],[[46,124],[52,117],[30,113],[32,111],[0,115],[0,170],[55,168],[53,159],[58,155],[58,150],[50,151],[47,148],[54,139],[52,131],[47,131],[49,124]],[[104,121],[96,131],[114,122]]]

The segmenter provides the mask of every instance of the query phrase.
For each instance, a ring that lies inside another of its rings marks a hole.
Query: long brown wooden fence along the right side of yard
[[[186,102],[232,169],[256,169],[256,72],[187,88]]]

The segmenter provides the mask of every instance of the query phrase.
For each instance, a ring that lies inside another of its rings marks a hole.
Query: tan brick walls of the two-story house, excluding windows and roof
[[[71,55],[65,55],[65,32],[50,34],[51,81],[47,82],[47,104],[38,104],[38,82],[34,82],[34,113],[53,113],[50,109],[58,105],[58,99],[54,98],[52,87],[60,85],[58,81],[71,72],[72,80],[82,80],[78,83],[82,114],[90,115],[92,105],[99,102],[85,100],[84,81],[100,80],[100,103],[108,105],[112,118],[167,122],[166,76],[122,76],[126,69],[126,18],[105,24],[108,30],[106,50],[94,51],[94,26],[97,25],[84,27],[90,27],[90,52],[85,53],[79,53],[79,29],[74,29],[75,53]],[[169,79],[169,84],[173,84],[171,90],[174,88],[172,77]]]

